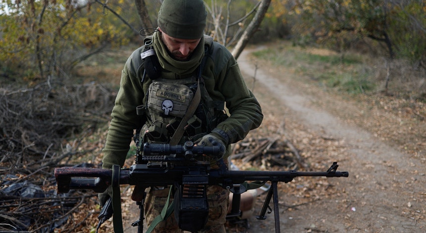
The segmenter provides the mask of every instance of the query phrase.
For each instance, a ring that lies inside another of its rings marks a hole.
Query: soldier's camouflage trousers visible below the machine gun
[[[169,188],[154,190],[148,188],[145,198],[145,218],[148,226],[160,215],[167,200]],[[173,196],[170,196],[170,202]],[[226,233],[225,222],[229,206],[229,190],[221,186],[207,186],[207,201],[209,204],[209,219],[206,226],[199,233]],[[194,221],[197,221],[194,219]],[[175,220],[174,214],[160,222],[153,233],[182,233]]]

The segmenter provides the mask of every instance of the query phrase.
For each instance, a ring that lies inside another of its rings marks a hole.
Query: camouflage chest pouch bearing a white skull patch
[[[149,87],[148,108],[151,115],[182,118],[194,97],[183,84],[153,82]]]

